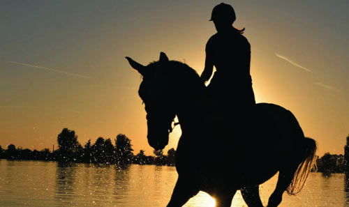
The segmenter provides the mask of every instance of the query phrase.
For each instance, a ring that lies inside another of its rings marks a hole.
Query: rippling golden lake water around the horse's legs
[[[276,176],[260,187],[265,206]],[[312,173],[297,196],[283,195],[282,206],[349,206],[348,175]],[[166,206],[177,181],[174,167],[0,160],[0,206]],[[214,206],[200,192],[185,206]],[[240,192],[232,206],[246,206]]]

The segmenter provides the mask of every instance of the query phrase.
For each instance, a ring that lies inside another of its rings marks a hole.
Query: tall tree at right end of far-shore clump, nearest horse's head
[[[119,134],[115,138],[115,145],[115,155],[117,156],[117,164],[131,164],[133,160],[133,148],[131,144],[131,139],[128,139],[126,135]]]

